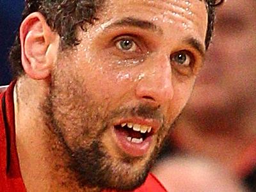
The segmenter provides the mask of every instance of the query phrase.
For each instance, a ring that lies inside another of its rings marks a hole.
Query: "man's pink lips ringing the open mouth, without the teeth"
[[[123,123],[150,126],[152,127],[152,134],[147,136],[147,138],[143,140],[142,143],[131,143],[130,141],[127,141],[127,134],[115,129],[115,125],[120,125]],[[153,144],[154,134],[156,134],[160,127],[159,121],[145,118],[125,118],[116,122],[115,125],[113,125],[113,136],[115,138],[116,145],[122,150],[122,152],[132,157],[140,157],[147,154],[148,150]]]

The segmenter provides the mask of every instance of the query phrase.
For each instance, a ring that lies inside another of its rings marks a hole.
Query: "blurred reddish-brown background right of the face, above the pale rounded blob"
[[[256,191],[255,8],[255,0],[227,0],[218,8],[205,66],[158,167],[173,155],[204,158]]]

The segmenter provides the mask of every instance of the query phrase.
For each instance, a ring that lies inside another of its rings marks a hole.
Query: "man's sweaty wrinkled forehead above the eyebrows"
[[[109,20],[133,17],[205,39],[207,10],[202,0],[108,0],[103,12]]]

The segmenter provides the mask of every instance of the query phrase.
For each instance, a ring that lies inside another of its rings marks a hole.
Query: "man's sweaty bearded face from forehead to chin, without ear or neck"
[[[205,3],[107,1],[61,52],[49,110],[83,186],[132,189],[147,176],[202,66]]]

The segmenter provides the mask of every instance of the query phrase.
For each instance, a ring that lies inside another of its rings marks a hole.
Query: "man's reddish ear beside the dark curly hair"
[[[47,79],[58,56],[60,36],[51,30],[45,17],[31,13],[20,26],[22,66],[32,79]]]

